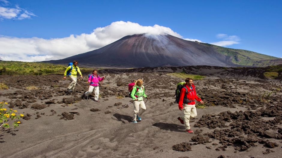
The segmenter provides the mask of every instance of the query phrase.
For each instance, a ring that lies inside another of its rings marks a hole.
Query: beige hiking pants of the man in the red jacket
[[[181,116],[180,118],[184,121],[185,129],[190,129],[190,117],[196,117],[197,111],[195,105],[188,105],[185,104],[184,108],[182,109],[184,116]]]

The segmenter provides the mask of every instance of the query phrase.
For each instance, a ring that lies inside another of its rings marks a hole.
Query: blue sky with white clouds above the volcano
[[[282,57],[281,8],[281,1],[0,0],[0,59],[62,59],[156,30]]]

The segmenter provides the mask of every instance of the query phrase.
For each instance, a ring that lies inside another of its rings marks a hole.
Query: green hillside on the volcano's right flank
[[[200,44],[214,47],[214,49],[217,50],[217,52],[225,56],[230,56],[231,61],[234,64],[238,64],[238,65],[264,67],[264,66],[269,66],[269,65],[277,65],[276,62],[273,62],[271,60],[280,59],[274,56],[268,56],[268,55],[252,52],[249,50],[220,47],[220,46],[211,45],[208,43],[200,43]]]

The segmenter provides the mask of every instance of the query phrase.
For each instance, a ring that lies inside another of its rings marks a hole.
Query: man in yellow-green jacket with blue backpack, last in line
[[[72,65],[72,69],[71,69],[71,66],[68,66],[66,71],[64,72],[64,79],[66,79],[66,76],[67,76],[67,71],[71,69],[71,74],[69,75],[70,76],[70,79],[72,80],[72,82],[70,83],[70,85],[67,87],[67,91],[68,92],[72,92],[75,85],[76,85],[76,81],[77,81],[77,72],[80,74],[80,78],[82,79],[82,74],[79,70],[79,67],[77,66],[78,62],[76,60],[73,61],[73,65]]]

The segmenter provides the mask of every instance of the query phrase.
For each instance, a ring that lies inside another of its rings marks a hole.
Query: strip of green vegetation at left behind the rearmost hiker
[[[66,68],[67,65],[58,65],[43,62],[0,61],[0,75],[64,74]],[[92,72],[93,70],[93,68],[79,68],[81,72]]]

